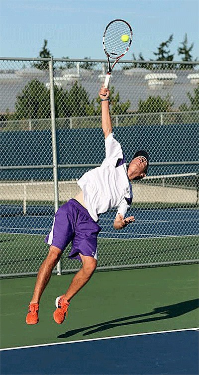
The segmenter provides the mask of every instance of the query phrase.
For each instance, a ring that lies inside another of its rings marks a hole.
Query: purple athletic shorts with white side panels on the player
[[[97,238],[101,228],[88,210],[70,199],[56,212],[51,232],[45,242],[64,251],[72,242],[69,258],[81,261],[79,253],[97,259]]]

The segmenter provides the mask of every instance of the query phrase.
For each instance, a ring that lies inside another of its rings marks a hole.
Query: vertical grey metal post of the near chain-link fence
[[[56,125],[55,125],[55,97],[54,97],[54,79],[53,79],[53,59],[48,62],[50,79],[50,110],[51,110],[51,133],[52,133],[52,152],[53,152],[53,182],[54,182],[54,200],[55,212],[59,208],[59,187],[58,187],[58,163],[57,163],[57,143],[56,143]],[[57,275],[61,275],[61,261],[57,264]]]

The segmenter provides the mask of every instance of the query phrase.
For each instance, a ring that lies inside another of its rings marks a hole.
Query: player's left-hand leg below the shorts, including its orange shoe
[[[52,270],[59,262],[61,255],[62,251],[59,248],[52,245],[50,246],[47,258],[43,261],[37,275],[33,296],[29,305],[29,311],[26,316],[27,324],[36,324],[39,321],[39,301],[48,281],[50,280]]]

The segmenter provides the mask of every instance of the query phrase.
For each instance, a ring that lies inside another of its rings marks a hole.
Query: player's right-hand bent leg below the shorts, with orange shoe
[[[74,276],[66,293],[56,299],[57,309],[54,311],[53,317],[56,323],[61,324],[65,319],[71,298],[91,279],[96,267],[97,260],[80,254],[82,259],[82,268]]]

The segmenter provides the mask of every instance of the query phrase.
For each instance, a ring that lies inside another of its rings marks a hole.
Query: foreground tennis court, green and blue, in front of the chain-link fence
[[[1,374],[198,374],[198,265],[95,273],[59,326],[54,298],[72,276],[51,278],[36,326],[35,278],[1,280]]]

